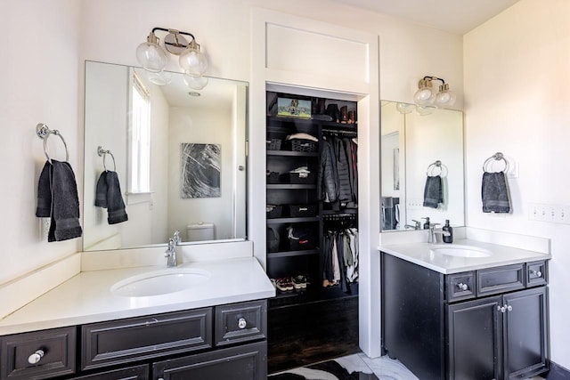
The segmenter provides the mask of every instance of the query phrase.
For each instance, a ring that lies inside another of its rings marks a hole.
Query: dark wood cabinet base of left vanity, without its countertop
[[[257,300],[0,336],[0,380],[261,380],[266,335]]]

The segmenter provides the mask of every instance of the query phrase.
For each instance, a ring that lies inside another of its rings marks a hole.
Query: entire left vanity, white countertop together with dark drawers
[[[0,378],[265,379],[274,288],[256,259],[179,265],[200,279],[176,292],[118,288],[168,271],[81,272],[0,320]]]

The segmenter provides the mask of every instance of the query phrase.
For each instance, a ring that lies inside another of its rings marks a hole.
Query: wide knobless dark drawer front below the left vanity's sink
[[[190,352],[212,346],[211,308],[176,311],[81,327],[81,368]]]

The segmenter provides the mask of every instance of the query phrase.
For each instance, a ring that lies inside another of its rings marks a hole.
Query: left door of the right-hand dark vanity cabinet
[[[450,380],[501,378],[501,296],[447,307]]]

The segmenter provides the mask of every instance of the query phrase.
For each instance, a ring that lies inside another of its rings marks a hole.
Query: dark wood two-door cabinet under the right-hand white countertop
[[[383,352],[422,380],[515,379],[548,370],[546,265],[444,275],[383,253]]]

